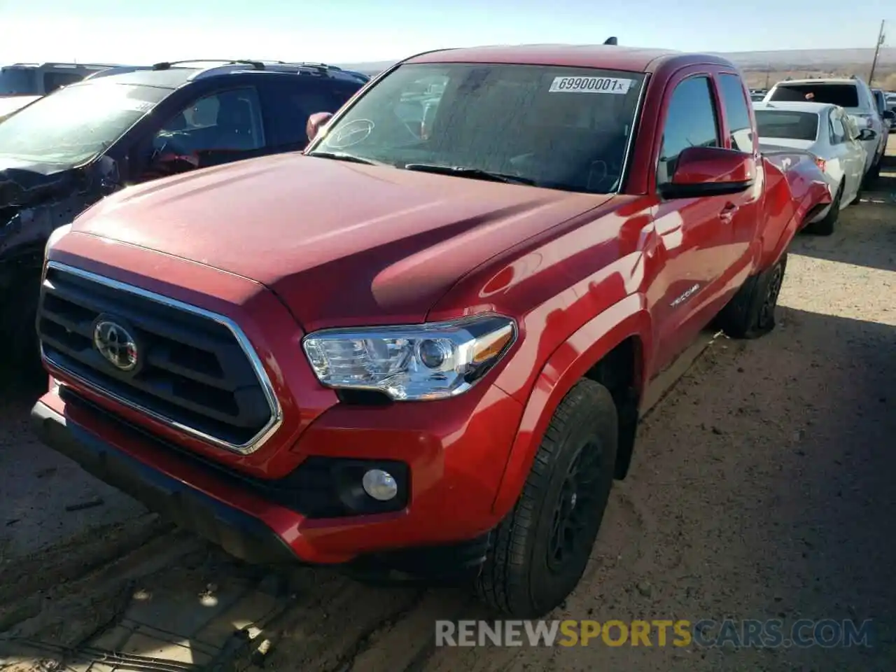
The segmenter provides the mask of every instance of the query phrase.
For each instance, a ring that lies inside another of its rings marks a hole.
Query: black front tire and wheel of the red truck
[[[581,380],[560,402],[519,500],[492,532],[476,584],[489,607],[538,618],[582,579],[613,485],[618,431],[616,405],[603,385]],[[558,553],[564,538],[569,547]]]

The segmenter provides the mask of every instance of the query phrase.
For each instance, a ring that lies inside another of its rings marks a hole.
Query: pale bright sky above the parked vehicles
[[[398,60],[440,47],[619,43],[685,51],[896,46],[894,0],[0,0],[0,64]]]

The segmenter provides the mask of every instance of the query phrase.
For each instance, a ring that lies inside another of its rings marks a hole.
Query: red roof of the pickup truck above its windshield
[[[506,63],[601,67],[607,70],[650,73],[659,65],[680,60],[680,65],[711,63],[734,67],[728,59],[710,54],[688,54],[671,49],[618,47],[616,45],[529,44],[441,49],[412,56],[404,63]]]

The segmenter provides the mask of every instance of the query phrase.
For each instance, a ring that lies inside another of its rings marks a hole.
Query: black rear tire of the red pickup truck
[[[785,271],[786,253],[771,268],[750,276],[719,314],[722,331],[732,339],[758,339],[771,332]]]

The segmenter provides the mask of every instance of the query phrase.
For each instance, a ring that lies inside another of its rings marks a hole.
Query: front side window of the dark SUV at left
[[[197,167],[239,158],[264,147],[264,125],[253,88],[219,91],[196,100],[168,120],[152,141],[156,154],[193,160]],[[235,156],[236,154],[236,156]]]

